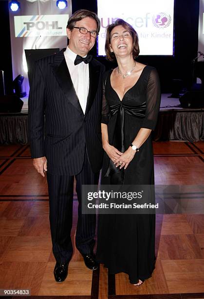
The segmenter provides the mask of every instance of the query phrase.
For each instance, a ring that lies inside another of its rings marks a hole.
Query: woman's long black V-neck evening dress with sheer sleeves
[[[102,123],[108,126],[109,143],[124,152],[140,128],[154,129],[161,93],[158,73],[145,66],[138,81],[122,101],[111,86],[111,71],[104,76]],[[154,162],[151,134],[128,168],[115,168],[105,153],[101,185],[153,185]],[[155,214],[99,214],[96,260],[109,273],[129,275],[130,283],[151,277],[155,267]]]

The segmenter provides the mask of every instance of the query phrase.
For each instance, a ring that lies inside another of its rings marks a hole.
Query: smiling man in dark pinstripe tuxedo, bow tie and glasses
[[[92,59],[100,29],[95,13],[76,11],[68,20],[66,50],[35,64],[29,95],[33,164],[47,182],[54,276],[64,281],[73,255],[71,241],[74,176],[78,198],[75,243],[89,269],[94,260],[95,215],[82,214],[82,185],[98,184],[102,165],[101,105],[104,66]]]

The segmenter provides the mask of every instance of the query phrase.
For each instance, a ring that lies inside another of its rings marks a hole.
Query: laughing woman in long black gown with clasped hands
[[[161,98],[157,71],[135,62],[138,36],[121,19],[107,27],[105,50],[118,67],[104,76],[101,184],[153,185],[151,130]],[[140,285],[154,270],[154,239],[155,214],[100,214],[96,259],[111,274],[125,272],[130,283]]]

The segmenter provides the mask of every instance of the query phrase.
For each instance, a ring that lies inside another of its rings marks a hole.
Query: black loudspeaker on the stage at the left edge
[[[23,107],[23,101],[15,94],[0,97],[0,112],[18,113]]]

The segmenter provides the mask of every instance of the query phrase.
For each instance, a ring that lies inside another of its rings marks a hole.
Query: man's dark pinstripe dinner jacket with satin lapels
[[[46,156],[48,171],[58,175],[80,172],[85,150],[93,172],[100,170],[102,74],[104,66],[89,64],[90,84],[85,115],[64,58],[65,49],[35,64],[28,100],[32,158]]]

